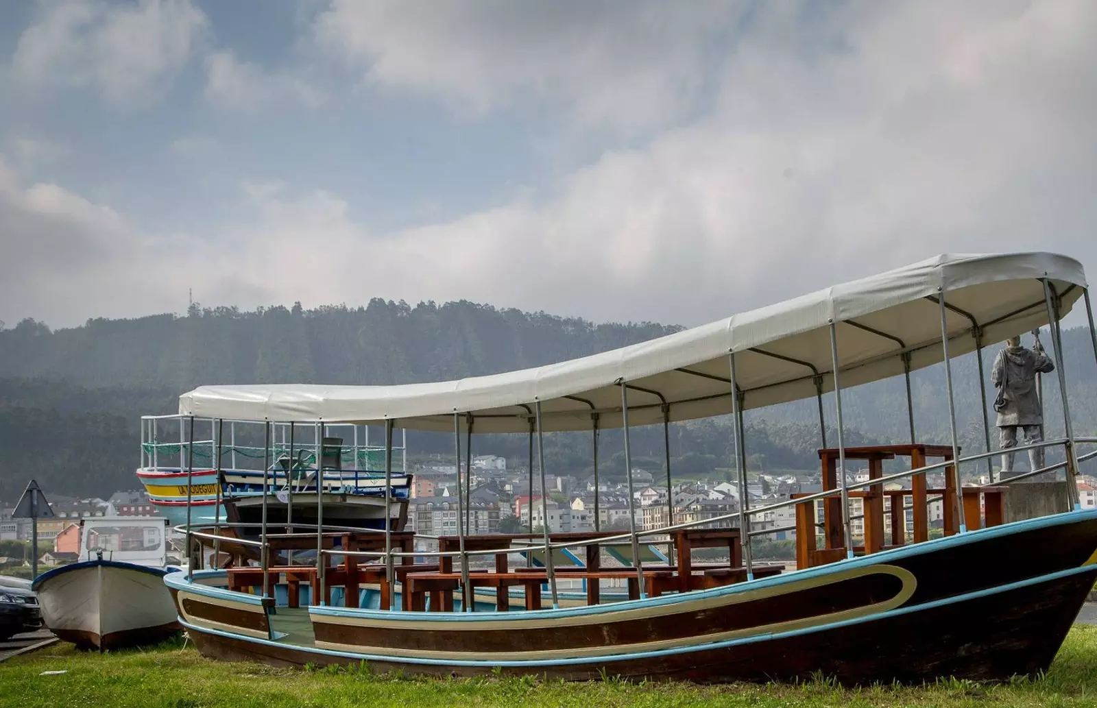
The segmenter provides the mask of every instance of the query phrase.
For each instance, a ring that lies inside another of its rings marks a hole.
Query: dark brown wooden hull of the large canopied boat
[[[1097,580],[1095,550],[1097,513],[1072,512],[659,598],[532,613],[310,607],[312,643],[224,626],[191,636],[220,659],[433,675],[1000,680],[1048,669]]]

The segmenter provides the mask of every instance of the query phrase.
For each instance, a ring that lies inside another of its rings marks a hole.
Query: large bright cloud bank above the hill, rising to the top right
[[[0,248],[54,239],[34,258],[0,253],[19,263],[0,273],[0,319],[178,310],[161,296],[193,285],[210,305],[468,298],[692,324],[946,251],[1097,266],[1097,5],[807,7],[759,5],[708,59],[700,115],[536,197],[414,228],[378,231],[351,186],[310,190],[286,165],[241,184],[237,221],[149,233],[0,163]],[[66,252],[64,276],[46,272],[63,236],[88,254]],[[273,283],[286,264],[302,276]]]

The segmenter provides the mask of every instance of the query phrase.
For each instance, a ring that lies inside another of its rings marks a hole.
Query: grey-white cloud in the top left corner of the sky
[[[190,59],[206,24],[191,0],[39,0],[12,69],[34,89],[88,88],[112,104],[147,104]]]

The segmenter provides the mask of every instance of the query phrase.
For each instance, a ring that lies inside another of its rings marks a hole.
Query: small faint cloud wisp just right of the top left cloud
[[[289,73],[272,73],[257,64],[242,62],[231,52],[206,57],[205,98],[211,103],[235,110],[258,111],[272,103],[290,101],[309,109],[320,106],[324,91]]]

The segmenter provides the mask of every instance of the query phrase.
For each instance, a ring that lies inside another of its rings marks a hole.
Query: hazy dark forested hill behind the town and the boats
[[[450,379],[565,361],[679,329],[648,322],[593,324],[465,301],[410,307],[380,299],[360,308],[316,310],[299,305],[250,312],[194,306],[183,317],[95,319],[58,331],[24,320],[0,329],[0,500],[12,501],[30,477],[58,493],[103,495],[135,487],[138,416],[174,412],[178,395],[201,384]],[[994,345],[985,354],[987,377],[998,349]],[[1064,350],[1076,426],[1079,433],[1097,433],[1097,365],[1088,332],[1064,332]],[[961,443],[965,450],[982,450],[974,357],[955,359],[953,376]],[[1062,409],[1055,376],[1044,378],[1053,435],[1062,429]],[[913,376],[919,439],[948,439],[943,389],[939,365]],[[902,377],[853,389],[842,401],[850,443],[908,437]],[[834,444],[830,396],[825,408]],[[751,466],[813,467],[817,415],[814,401],[751,411]],[[719,419],[676,424],[672,468],[703,473],[726,465],[728,433]],[[589,435],[550,438],[546,468],[586,471]],[[661,465],[660,431],[637,430],[634,443],[637,454],[649,458],[642,464],[653,471]],[[411,453],[449,454],[451,445],[448,436],[409,436]],[[476,445],[479,452],[519,459],[525,455],[524,441],[513,436],[491,436]],[[612,473],[621,463],[620,436],[607,432],[602,449],[603,469]]]

